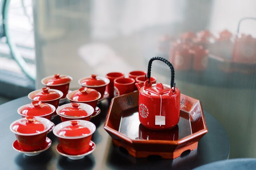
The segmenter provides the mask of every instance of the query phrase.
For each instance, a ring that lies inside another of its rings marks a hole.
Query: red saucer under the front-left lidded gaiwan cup
[[[45,140],[45,146],[43,148],[41,148],[41,150],[36,150],[36,151],[24,151],[23,149],[21,149],[19,147],[19,144],[18,144],[18,141],[14,141],[13,144],[12,144],[12,147],[14,150],[20,152],[20,153],[23,153],[27,156],[35,156],[35,155],[38,155],[40,154],[41,152],[47,150],[48,148],[50,148],[50,146],[52,145],[52,141],[50,138],[46,137],[46,140]]]

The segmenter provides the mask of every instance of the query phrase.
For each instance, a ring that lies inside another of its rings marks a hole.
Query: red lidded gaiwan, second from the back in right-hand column
[[[67,99],[70,100],[71,103],[79,102],[88,104],[92,106],[94,110],[100,97],[101,94],[98,91],[87,87],[81,87],[79,90],[67,94]]]

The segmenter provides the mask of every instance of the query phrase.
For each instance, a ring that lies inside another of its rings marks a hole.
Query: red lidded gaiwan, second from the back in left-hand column
[[[41,101],[43,103],[51,104],[55,109],[59,106],[60,98],[63,97],[63,93],[59,90],[50,89],[49,87],[41,88],[41,90],[35,90],[28,94],[28,98],[32,101]],[[55,116],[56,112],[52,114]]]

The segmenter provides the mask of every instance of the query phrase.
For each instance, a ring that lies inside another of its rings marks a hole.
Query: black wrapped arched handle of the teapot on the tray
[[[150,58],[149,64],[147,66],[147,78],[149,79],[149,82],[150,82],[150,77],[151,77],[151,65],[152,65],[152,62],[155,60],[162,61],[170,67],[170,69],[171,69],[171,88],[172,88],[174,86],[174,68],[173,68],[173,65],[167,59],[165,59],[163,57]]]

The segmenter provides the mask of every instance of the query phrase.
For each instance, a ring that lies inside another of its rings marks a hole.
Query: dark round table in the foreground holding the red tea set
[[[81,160],[70,160],[57,153],[59,143],[53,133],[48,137],[52,146],[37,156],[25,156],[12,148],[16,140],[9,129],[10,124],[20,119],[17,109],[31,101],[27,97],[18,98],[0,105],[0,169],[192,169],[201,165],[226,160],[229,158],[230,142],[228,135],[219,122],[209,113],[204,112],[208,133],[198,142],[198,148],[190,153],[184,153],[175,160],[163,160],[159,157],[134,158],[125,151],[112,145],[112,139],[104,130],[104,122],[109,109],[110,100],[102,101],[98,107],[101,113],[91,121],[97,129],[92,136],[96,144],[94,152]],[[53,120],[55,124],[59,118]]]

